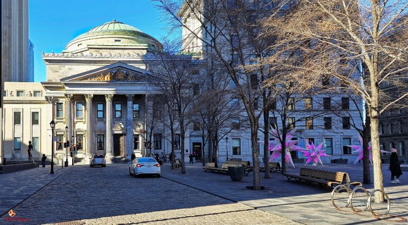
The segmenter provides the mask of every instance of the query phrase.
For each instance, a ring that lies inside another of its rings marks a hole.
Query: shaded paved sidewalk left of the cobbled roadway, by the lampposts
[[[72,166],[61,169],[54,165],[54,174],[50,174],[51,166],[47,165],[45,168],[0,174],[0,217],[70,168]]]

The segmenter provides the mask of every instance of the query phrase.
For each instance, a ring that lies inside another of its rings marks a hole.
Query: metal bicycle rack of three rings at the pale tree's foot
[[[334,194],[335,194],[335,193],[339,193],[339,192],[342,191],[342,190],[346,190],[349,197],[348,197],[348,201],[347,201],[346,206],[339,207],[339,206],[337,206],[336,203],[334,202]],[[363,209],[363,210],[357,210],[357,209],[353,206],[353,196],[354,196],[354,193],[355,193],[357,190],[362,190],[362,191],[366,194],[366,197],[367,197],[367,204],[366,204],[365,209]],[[379,213],[374,212],[374,210],[373,210],[373,208],[372,208],[372,206],[371,206],[371,198],[373,197],[374,193],[376,193],[376,192],[381,192],[381,193],[384,195],[384,197],[387,199],[387,211],[386,211],[384,214],[379,214]],[[363,188],[363,187],[361,187],[361,186],[357,186],[357,187],[355,187],[355,188],[351,191],[351,190],[350,190],[350,187],[347,187],[347,186],[342,185],[342,184],[337,185],[336,187],[334,187],[333,191],[331,192],[331,203],[333,204],[333,206],[334,206],[335,209],[351,208],[351,210],[352,210],[353,212],[361,212],[361,211],[367,211],[367,210],[369,210],[369,211],[371,212],[371,214],[373,214],[374,217],[386,216],[386,215],[388,215],[388,213],[389,213],[389,211],[390,211],[390,198],[388,197],[387,193],[385,193],[384,191],[379,190],[379,189],[375,189],[374,191],[372,191],[372,192],[370,193],[369,191],[367,191],[365,188]]]

